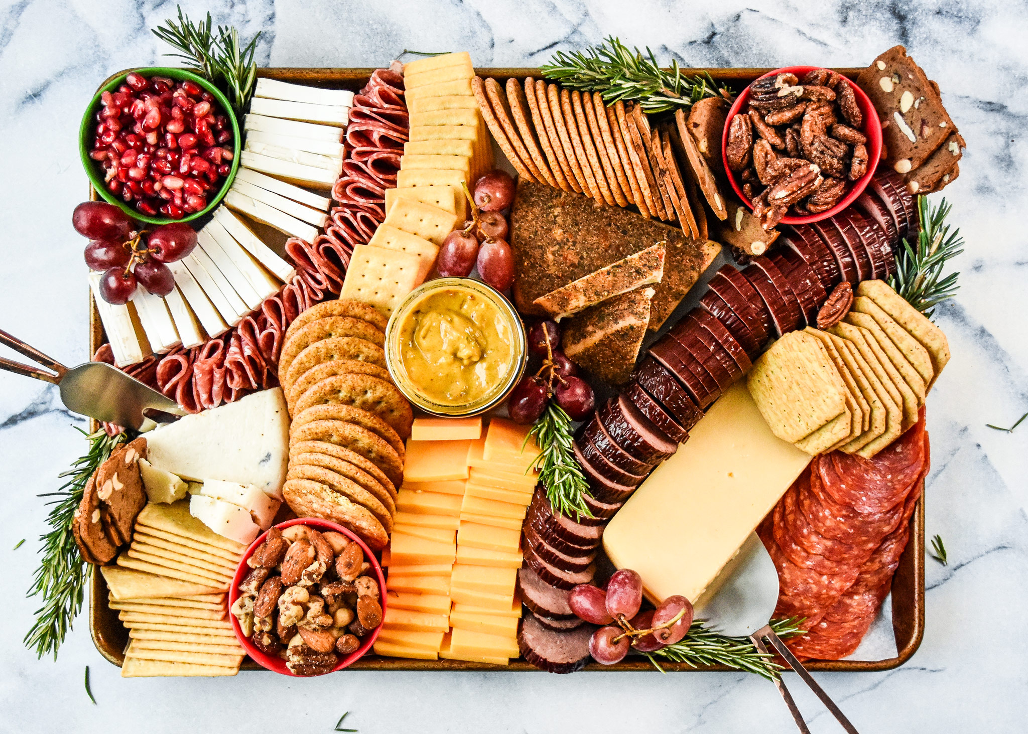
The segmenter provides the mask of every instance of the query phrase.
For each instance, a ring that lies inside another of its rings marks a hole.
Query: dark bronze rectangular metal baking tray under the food
[[[125,70],[128,71],[128,70]],[[299,84],[323,86],[326,88],[360,89],[368,81],[374,68],[368,69],[317,69],[317,68],[266,68],[258,69],[257,76],[291,81]],[[733,89],[739,90],[759,76],[772,71],[771,69],[683,69],[687,76],[709,74],[714,81],[727,83]],[[856,78],[859,69],[836,69],[840,74]],[[485,77],[493,77],[502,84],[510,77],[524,79],[525,77],[541,78],[539,69],[531,68],[478,68],[476,72]],[[124,72],[112,75],[117,76]],[[109,81],[110,78],[107,80]],[[104,81],[103,84],[106,84]],[[103,86],[101,84],[101,86]],[[89,197],[96,194],[90,186]],[[90,356],[106,341],[103,324],[97,311],[97,305],[89,296],[89,354]],[[93,421],[93,430],[97,430]],[[892,579],[892,632],[895,637],[896,650],[893,658],[873,661],[835,660],[811,661],[807,664],[810,670],[835,670],[842,672],[880,671],[903,665],[909,660],[924,636],[924,496],[917,503],[917,508],[911,518],[911,541],[900,559],[900,567]],[[94,573],[89,590],[89,631],[97,650],[114,665],[124,662],[124,649],[128,644],[128,631],[118,620],[118,613],[108,607],[107,584],[103,576]],[[661,665],[668,672],[702,672],[712,670],[730,670],[724,665],[707,665],[692,667],[687,663],[666,663]],[[244,670],[263,670],[249,658],[243,662]],[[353,670],[439,670],[439,671],[484,671],[484,670],[538,670],[523,659],[512,661],[510,665],[488,665],[471,663],[461,660],[407,660],[377,655],[366,655],[350,666]],[[655,668],[646,659],[629,656],[616,665],[599,665],[591,663],[585,670],[605,671],[646,671]]]

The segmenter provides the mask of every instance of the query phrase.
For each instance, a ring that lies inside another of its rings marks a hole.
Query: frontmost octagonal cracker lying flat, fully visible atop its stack
[[[846,407],[846,386],[828,352],[802,331],[785,334],[761,355],[746,384],[771,432],[791,443],[835,419]]]

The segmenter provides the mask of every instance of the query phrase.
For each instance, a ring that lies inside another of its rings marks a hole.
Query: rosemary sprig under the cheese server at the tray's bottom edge
[[[771,621],[771,629],[781,638],[803,634],[798,617]],[[709,629],[703,620],[695,620],[689,632],[681,641],[668,645],[647,657],[654,666],[664,672],[656,658],[664,658],[672,663],[686,663],[692,667],[699,665],[727,665],[736,670],[757,673],[761,677],[774,681],[782,666],[775,663],[770,655],[765,655],[754,647],[748,637],[728,637]]]

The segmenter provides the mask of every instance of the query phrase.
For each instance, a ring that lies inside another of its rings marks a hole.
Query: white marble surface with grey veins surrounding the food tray
[[[938,79],[967,140],[947,189],[967,241],[958,298],[939,323],[953,360],[929,399],[933,462],[927,531],[950,565],[927,564],[927,629],[904,667],[819,680],[861,732],[1019,732],[1028,720],[1028,9],[1023,3],[218,2],[216,22],[264,31],[259,63],[386,65],[404,48],[467,48],[480,66],[530,66],[557,48],[615,34],[684,66],[862,66],[904,43]],[[186,3],[197,15],[207,8]],[[631,9],[628,9],[628,8]],[[83,241],[69,226],[85,177],[76,150],[97,84],[160,63],[149,33],[173,2],[6,0],[0,7],[0,328],[70,364],[86,355]],[[118,676],[93,647],[84,616],[57,662],[22,646],[36,602],[28,588],[45,510],[37,493],[83,442],[56,393],[0,376],[0,567],[10,599],[0,625],[0,731],[361,732],[795,731],[774,688],[733,674],[411,674],[347,672],[313,681],[244,673],[226,680]],[[17,550],[17,541],[27,539]],[[88,665],[98,705],[86,698]],[[791,677],[791,680],[795,680]],[[794,688],[802,688],[794,686]],[[805,690],[812,731],[838,731]]]

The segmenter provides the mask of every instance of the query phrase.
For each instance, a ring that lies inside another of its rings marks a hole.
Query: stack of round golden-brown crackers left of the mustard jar
[[[290,325],[279,380],[292,415],[283,493],[301,517],[348,527],[374,550],[393,529],[413,420],[386,370],[387,318],[341,298]]]

